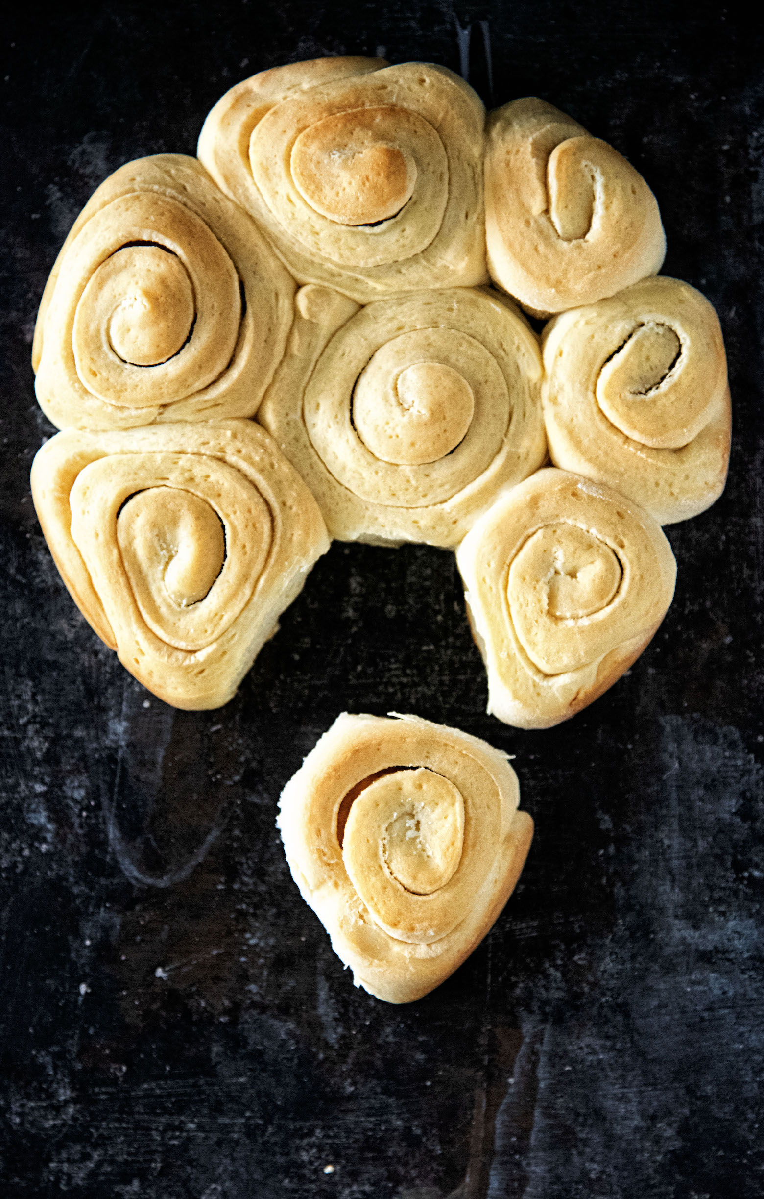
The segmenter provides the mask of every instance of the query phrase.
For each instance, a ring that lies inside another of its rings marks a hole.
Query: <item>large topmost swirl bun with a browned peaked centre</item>
[[[231,88],[198,152],[299,283],[366,303],[486,282],[484,122],[445,67],[315,59]]]

